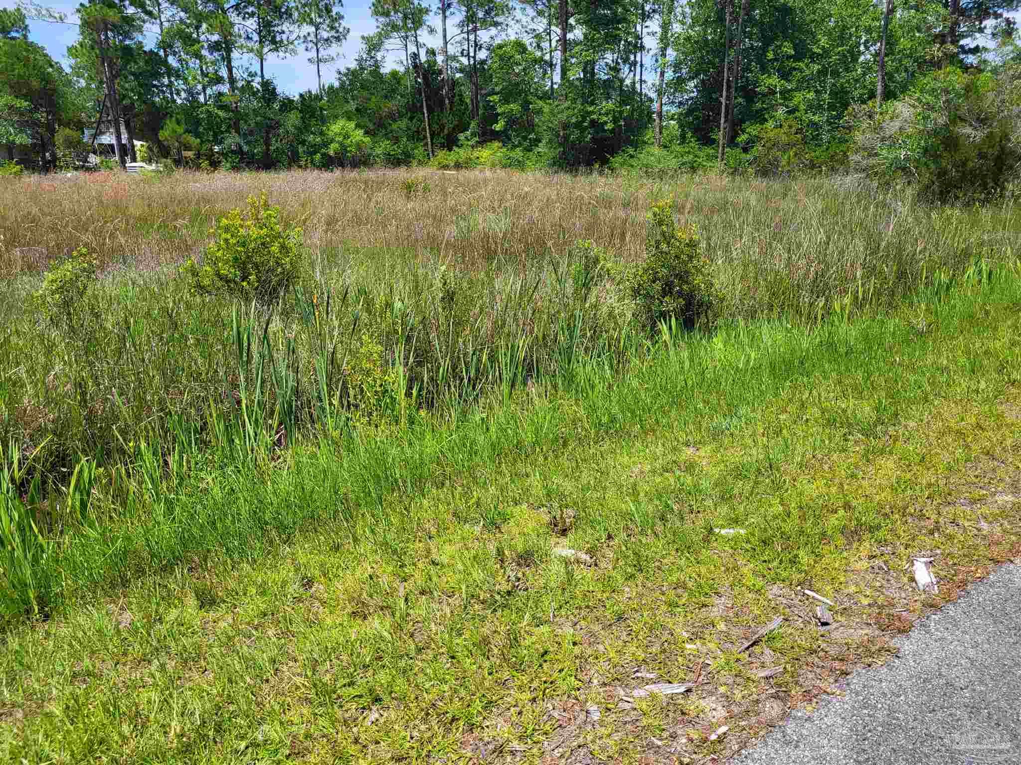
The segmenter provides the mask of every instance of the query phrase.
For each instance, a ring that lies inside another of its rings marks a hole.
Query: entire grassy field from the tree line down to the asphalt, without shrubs
[[[171,267],[263,189],[309,248],[268,323]],[[578,239],[639,258],[670,194],[726,310],[650,338],[613,263],[564,274]],[[5,563],[8,761],[708,761],[1021,552],[1011,205],[375,172],[33,178],[0,210],[0,496],[42,529]],[[28,296],[83,244],[104,275],[52,326]],[[403,393],[331,409],[334,345]]]

